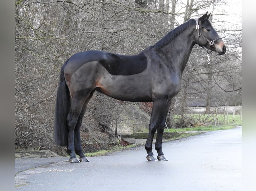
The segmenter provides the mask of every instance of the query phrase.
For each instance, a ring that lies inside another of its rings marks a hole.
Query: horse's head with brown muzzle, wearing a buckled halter
[[[218,55],[223,55],[226,53],[226,45],[209,21],[210,15],[211,13],[208,15],[206,12],[202,17],[195,19],[197,44],[215,51]]]

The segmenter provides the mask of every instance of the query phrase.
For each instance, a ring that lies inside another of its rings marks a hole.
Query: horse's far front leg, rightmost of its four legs
[[[158,153],[157,155],[157,159],[160,160],[160,161],[165,161],[165,160],[168,160],[164,154],[163,154],[163,151],[162,151],[162,139],[163,139],[163,131],[164,131],[164,127],[165,127],[165,120],[166,120],[166,116],[167,116],[167,113],[168,113],[168,110],[169,110],[169,107],[170,107],[170,103],[171,101],[169,100],[165,109],[164,109],[164,112],[163,112],[163,115],[160,119],[160,123],[157,127],[157,135],[156,135],[156,142],[155,142],[155,149]]]

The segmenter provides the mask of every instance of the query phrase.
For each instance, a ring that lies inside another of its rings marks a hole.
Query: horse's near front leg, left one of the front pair
[[[148,137],[145,144],[145,149],[148,153],[147,155],[148,161],[157,161],[157,159],[154,157],[154,154],[152,152],[152,143],[153,143],[155,131],[157,129],[157,126],[163,114],[163,108],[166,107],[166,104],[167,104],[167,96],[163,96],[153,101],[153,108],[152,108],[151,118],[149,123],[149,132],[148,132]]]

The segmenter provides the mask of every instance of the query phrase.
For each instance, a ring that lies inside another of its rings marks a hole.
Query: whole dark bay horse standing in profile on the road
[[[86,51],[65,62],[57,91],[54,137],[57,145],[67,146],[70,162],[89,161],[82,151],[80,127],[95,91],[123,101],[153,101],[146,158],[167,160],[162,151],[165,119],[171,99],[180,91],[181,76],[193,46],[198,44],[218,55],[226,52],[209,17],[207,12],[200,18],[190,19],[138,55]],[[157,158],[152,152],[156,130]]]

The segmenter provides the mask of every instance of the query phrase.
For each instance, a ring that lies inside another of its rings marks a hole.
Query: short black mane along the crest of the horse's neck
[[[195,25],[194,19],[189,19],[187,22],[179,25],[172,31],[170,31],[167,35],[165,35],[161,40],[159,40],[153,48],[155,50],[158,50],[160,48],[163,48],[166,44],[168,44],[171,40],[173,40],[176,36],[178,36],[180,33],[182,33],[185,29],[190,27],[191,25]]]

